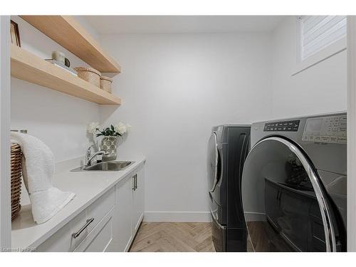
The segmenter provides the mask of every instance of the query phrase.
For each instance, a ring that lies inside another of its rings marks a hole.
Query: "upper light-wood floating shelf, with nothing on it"
[[[120,73],[120,66],[71,16],[21,16],[78,58],[102,73]]]

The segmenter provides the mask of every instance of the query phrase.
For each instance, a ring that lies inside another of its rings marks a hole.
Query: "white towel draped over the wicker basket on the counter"
[[[66,206],[75,194],[53,187],[54,155],[45,143],[19,132],[11,132],[11,140],[21,146],[23,182],[30,197],[33,219],[42,224]]]

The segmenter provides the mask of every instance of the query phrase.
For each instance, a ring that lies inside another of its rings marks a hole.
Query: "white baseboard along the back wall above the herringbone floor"
[[[209,211],[145,211],[143,221],[210,222]]]

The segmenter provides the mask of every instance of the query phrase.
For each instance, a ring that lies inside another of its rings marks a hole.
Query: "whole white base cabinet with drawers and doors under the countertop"
[[[144,197],[142,164],[39,245],[37,251],[128,251],[143,219]]]

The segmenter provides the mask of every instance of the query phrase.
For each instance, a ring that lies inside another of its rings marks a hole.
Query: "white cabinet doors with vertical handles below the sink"
[[[115,248],[128,251],[143,219],[145,209],[145,173],[139,167],[115,187]]]

